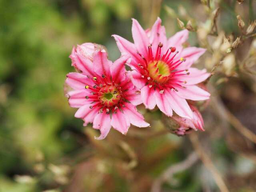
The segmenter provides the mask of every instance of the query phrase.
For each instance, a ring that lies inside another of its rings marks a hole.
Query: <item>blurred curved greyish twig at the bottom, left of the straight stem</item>
[[[196,161],[198,160],[198,156],[195,152],[191,153],[188,158],[186,158],[184,161],[174,164],[167,168],[162,175],[160,175],[153,183],[151,192],[160,192],[162,184],[170,180],[173,175],[177,172],[184,171],[188,168],[190,168]]]

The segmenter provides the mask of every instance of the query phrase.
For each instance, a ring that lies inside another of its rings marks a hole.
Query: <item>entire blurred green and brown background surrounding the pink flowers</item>
[[[150,128],[94,140],[65,97],[72,47],[102,44],[115,60],[111,35],[132,41],[131,18],[146,29],[157,16],[168,36],[190,20],[189,43],[208,48],[196,63],[215,73],[206,131],[178,137],[139,106]],[[0,192],[256,191],[254,19],[255,0],[0,0]]]

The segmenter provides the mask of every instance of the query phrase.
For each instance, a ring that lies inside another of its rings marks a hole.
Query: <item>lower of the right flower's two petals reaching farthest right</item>
[[[199,101],[199,100],[206,100],[210,98],[210,93],[199,88],[196,85],[189,85],[185,87],[186,88],[174,86],[174,88],[178,90],[177,94],[184,99]]]

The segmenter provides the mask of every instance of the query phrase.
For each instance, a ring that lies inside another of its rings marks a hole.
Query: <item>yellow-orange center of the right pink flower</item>
[[[158,83],[165,83],[171,74],[170,67],[166,62],[158,60],[148,63],[148,73],[150,78]]]

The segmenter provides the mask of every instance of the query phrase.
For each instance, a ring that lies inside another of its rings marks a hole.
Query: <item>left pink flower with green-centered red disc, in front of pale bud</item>
[[[104,139],[111,126],[126,134],[130,124],[138,127],[149,126],[136,110],[141,104],[138,88],[126,75],[124,64],[129,56],[122,56],[114,63],[107,59],[105,50],[93,53],[93,61],[82,55],[83,48],[72,51],[72,65],[81,73],[67,74],[66,83],[74,89],[68,92],[71,107],[79,108],[76,118],[84,120],[84,126],[93,123]]]

